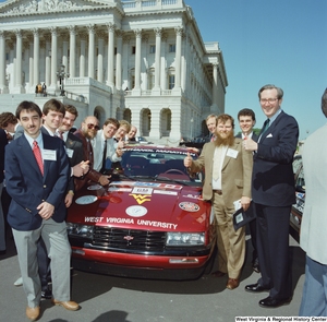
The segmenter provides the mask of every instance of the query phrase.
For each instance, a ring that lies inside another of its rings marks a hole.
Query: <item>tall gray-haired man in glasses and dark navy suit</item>
[[[293,156],[298,145],[296,120],[281,110],[283,92],[265,85],[258,92],[267,117],[257,142],[243,141],[246,151],[254,152],[252,198],[257,220],[257,250],[262,277],[245,290],[268,290],[259,306],[276,308],[292,297],[289,264],[289,220],[295,203]]]

